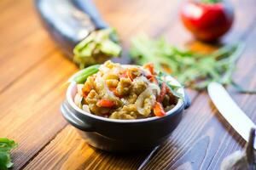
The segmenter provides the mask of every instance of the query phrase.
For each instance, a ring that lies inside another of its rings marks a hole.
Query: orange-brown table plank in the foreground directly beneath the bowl
[[[131,159],[132,156],[136,159]],[[74,127],[68,125],[25,169],[108,169],[113,165],[116,169],[135,169],[145,153],[132,156],[95,150],[84,143]]]

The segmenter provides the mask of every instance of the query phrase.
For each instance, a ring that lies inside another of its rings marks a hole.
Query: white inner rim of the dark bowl
[[[79,74],[80,71],[78,71],[77,73],[75,73],[73,76]],[[173,78],[172,76],[166,76],[166,79],[169,79],[170,81],[174,82],[175,84],[177,84],[177,86],[180,86],[181,88],[178,88],[178,93],[183,95],[183,99],[178,99],[177,100],[177,105],[175,105],[172,110],[167,111],[166,112],[166,116],[170,116],[174,113],[176,113],[176,111],[178,111],[180,108],[184,107],[184,98],[185,98],[185,90],[183,88],[183,86],[177,82],[177,80],[175,78]],[[131,123],[131,122],[149,122],[149,121],[153,121],[153,120],[158,120],[161,119],[163,117],[166,116],[153,116],[153,117],[147,117],[147,118],[142,118],[142,119],[132,119],[132,120],[126,120],[126,119],[110,119],[107,117],[102,117],[102,116],[96,116],[94,114],[91,114],[89,112],[83,111],[82,109],[79,108],[79,106],[75,105],[74,101],[73,101],[73,89],[76,88],[77,83],[76,82],[70,82],[68,88],[67,88],[67,93],[66,93],[66,98],[67,98],[67,103],[69,105],[71,105],[73,107],[73,109],[75,111],[77,111],[79,114],[81,115],[85,115],[85,116],[90,116],[91,118],[94,119],[98,119],[101,121],[105,121],[105,122],[124,122],[124,123]],[[74,89],[77,90],[77,89]],[[75,94],[75,93],[74,93]]]

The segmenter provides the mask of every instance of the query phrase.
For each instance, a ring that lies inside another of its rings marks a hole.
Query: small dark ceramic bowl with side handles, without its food
[[[179,84],[174,78],[166,77]],[[171,135],[182,119],[183,111],[190,105],[189,96],[183,88],[178,89],[184,99],[163,117],[149,117],[137,120],[115,120],[82,111],[74,104],[77,92],[75,82],[67,88],[67,99],[61,105],[61,112],[67,122],[76,127],[85,141],[101,150],[126,152],[151,150]]]

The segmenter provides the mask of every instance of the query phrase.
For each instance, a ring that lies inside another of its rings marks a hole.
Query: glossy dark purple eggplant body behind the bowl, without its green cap
[[[73,48],[90,32],[106,29],[91,0],[35,0],[45,28],[55,42],[73,59]]]

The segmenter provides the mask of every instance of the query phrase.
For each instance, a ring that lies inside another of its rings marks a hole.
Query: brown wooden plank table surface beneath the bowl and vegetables
[[[231,2],[236,23],[223,42],[247,42],[234,77],[256,88],[256,3]],[[117,28],[125,48],[131,36],[146,31],[152,37],[166,35],[176,45],[211,49],[184,30],[178,0],[97,0],[96,5]],[[147,162],[151,152],[121,155],[90,147],[59,111],[65,98],[61,84],[78,68],[44,31],[32,0],[1,0],[0,11],[0,137],[19,143],[11,153],[14,169],[218,169],[225,156],[245,145],[206,92],[189,90],[193,103],[183,121]],[[256,122],[256,96],[228,90]]]

